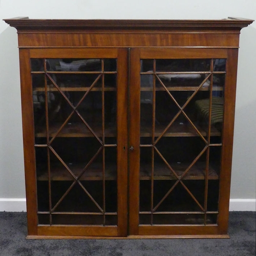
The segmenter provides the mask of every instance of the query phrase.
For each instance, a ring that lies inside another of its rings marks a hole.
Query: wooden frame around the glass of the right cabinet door
[[[195,48],[137,48],[131,49],[130,70],[130,123],[129,146],[129,234],[130,236],[182,236],[195,233],[199,237],[227,237],[228,205],[230,191],[232,135],[234,122],[234,100],[236,92],[236,70],[238,49],[195,49]],[[223,148],[221,156],[221,175],[219,190],[218,225],[194,226],[185,225],[139,225],[139,169],[140,169],[140,59],[154,58],[225,58],[226,81],[223,124]]]

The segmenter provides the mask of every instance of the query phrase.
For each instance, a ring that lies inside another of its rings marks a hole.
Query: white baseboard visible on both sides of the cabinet
[[[230,199],[230,211],[256,211],[256,199]],[[0,198],[0,211],[27,211],[26,198]]]

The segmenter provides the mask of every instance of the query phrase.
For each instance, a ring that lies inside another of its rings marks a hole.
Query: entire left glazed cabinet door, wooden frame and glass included
[[[127,51],[20,59],[29,235],[126,236]]]

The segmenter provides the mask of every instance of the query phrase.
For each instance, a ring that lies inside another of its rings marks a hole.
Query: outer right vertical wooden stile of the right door
[[[223,151],[220,175],[219,228],[227,233],[232,165],[234,106],[236,103],[238,50],[229,49],[226,62],[226,82],[223,123]]]

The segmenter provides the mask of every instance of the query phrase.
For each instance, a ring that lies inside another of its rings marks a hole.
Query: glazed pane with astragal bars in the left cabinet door
[[[33,58],[31,75],[38,224],[116,226],[117,58]]]

